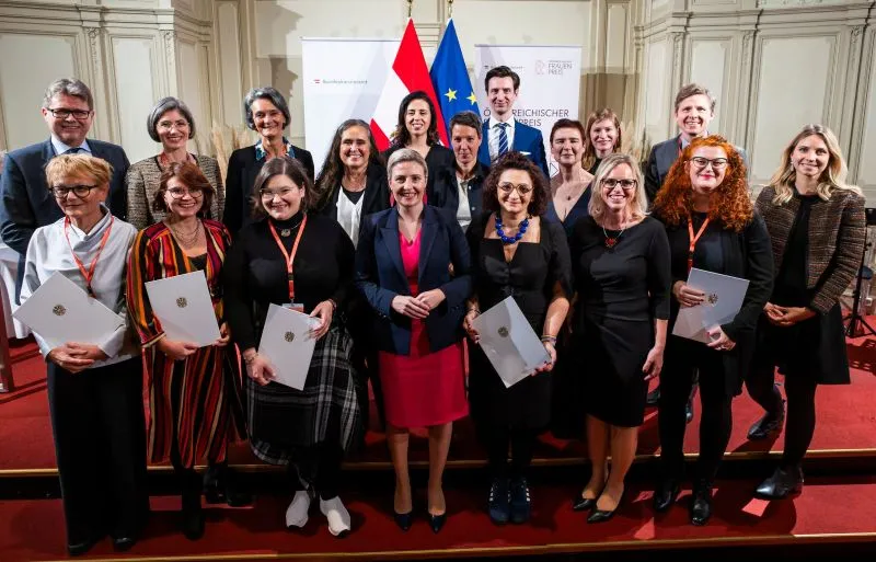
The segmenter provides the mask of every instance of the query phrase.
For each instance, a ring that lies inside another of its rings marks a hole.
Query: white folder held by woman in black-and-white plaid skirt
[[[316,340],[311,328],[320,321],[297,310],[270,305],[258,342],[258,355],[274,369],[274,381],[297,390],[304,389]]]

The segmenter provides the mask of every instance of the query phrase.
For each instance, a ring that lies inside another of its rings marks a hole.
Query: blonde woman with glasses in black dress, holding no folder
[[[569,241],[578,295],[570,348],[585,378],[590,481],[573,509],[609,520],[636,454],[648,380],[660,375],[669,319],[669,242],[645,214],[642,173],[627,154],[610,154],[593,181],[590,215]],[[611,455],[611,471],[607,459]]]

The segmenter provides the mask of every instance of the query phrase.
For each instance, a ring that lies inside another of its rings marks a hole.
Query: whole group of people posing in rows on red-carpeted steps
[[[240,438],[263,461],[288,467],[287,527],[303,527],[319,497],[330,531],[344,536],[351,524],[341,467],[361,440],[369,381],[402,530],[415,512],[410,429],[428,428],[425,515],[439,532],[452,424],[466,415],[488,459],[493,521],[530,518],[533,446],[557,414],[586,418],[592,470],[572,508],[589,512],[588,523],[610,519],[658,377],[656,511],[675,504],[684,478],[698,380],[691,523],[711,517],[744,385],[765,410],[752,439],[781,431],[787,401],[783,458],[757,493],[800,490],[817,386],[850,381],[839,298],[865,236],[864,199],[845,183],[834,135],[803,128],[752,202],[745,152],[708,131],[715,100],[689,84],[675,103],[680,134],[654,147],[644,174],[620,150],[620,122],[607,108],[586,124],[554,125],[558,172],[549,177],[541,134],[514,117],[519,87],[511,69],[489,70],[491,117],[452,116],[451,147],[439,144],[423,92],[402,101],[382,154],[368,124],[346,121],[319,174],[284,136],[283,95],[254,89],[243,105],[258,140],[231,154],[223,186],[216,160],[186,149],[195,123],[182,101],[158,102],[147,130],[162,149],[128,165],[120,147],[85,139],[94,116],[85,84],[49,85],[50,139],[5,158],[0,236],[22,255],[21,301],[59,272],[124,322],[100,345],[49,348],[36,334],[71,554],[106,535],[118,550],[136,542],[149,514],[147,459],[171,462],[182,530],[200,537],[201,494],[252,501],[227,463]],[[749,280],[739,313],[712,326],[705,344],[670,335],[680,309],[706,299],[687,284],[693,267]],[[145,290],[195,271],[207,278],[220,325],[219,340],[203,347],[169,340]],[[474,322],[508,297],[549,357],[510,388],[477,345]],[[314,319],[302,390],[274,381],[258,354],[272,305]],[[554,406],[556,378],[578,382],[570,411]],[[194,470],[201,462],[204,479]]]

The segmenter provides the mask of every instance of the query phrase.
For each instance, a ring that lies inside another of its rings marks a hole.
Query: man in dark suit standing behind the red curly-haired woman
[[[649,204],[654,203],[666,174],[684,147],[690,145],[694,137],[708,136],[708,124],[715,118],[715,104],[716,100],[712,92],[696,83],[683,85],[676,94],[675,116],[679,135],[654,145],[645,167],[645,193],[648,195]],[[746,151],[739,147],[737,150],[748,165]]]

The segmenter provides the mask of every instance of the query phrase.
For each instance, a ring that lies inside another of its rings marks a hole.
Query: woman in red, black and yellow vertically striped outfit
[[[243,433],[243,416],[240,372],[230,357],[220,282],[231,237],[221,222],[200,218],[214,196],[214,187],[197,165],[170,165],[152,200],[166,218],[137,234],[128,264],[128,310],[140,336],[149,392],[149,460],[170,459],[173,464],[182,484],[183,532],[193,540],[204,534],[201,481],[195,463],[206,458],[209,464],[208,501],[230,505],[250,501],[230,489],[226,462],[229,441]],[[165,337],[146,293],[150,280],[196,271],[207,277],[221,325],[221,337],[206,347]]]

